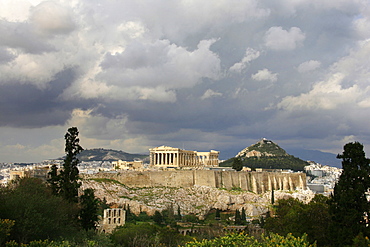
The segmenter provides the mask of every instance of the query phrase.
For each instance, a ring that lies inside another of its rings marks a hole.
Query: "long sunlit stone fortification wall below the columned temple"
[[[306,188],[306,174],[244,171],[125,171],[121,173],[100,172],[82,175],[83,178],[114,179],[128,187],[191,187],[241,188],[255,193],[274,190]]]

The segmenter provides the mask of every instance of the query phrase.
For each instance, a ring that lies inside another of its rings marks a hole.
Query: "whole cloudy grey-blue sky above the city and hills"
[[[0,162],[62,156],[70,126],[88,149],[370,155],[368,0],[1,0],[0,34]]]

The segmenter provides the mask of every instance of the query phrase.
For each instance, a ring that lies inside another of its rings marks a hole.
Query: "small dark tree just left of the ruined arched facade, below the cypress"
[[[85,230],[95,229],[98,222],[99,200],[96,199],[94,190],[85,189],[80,196],[80,221]]]

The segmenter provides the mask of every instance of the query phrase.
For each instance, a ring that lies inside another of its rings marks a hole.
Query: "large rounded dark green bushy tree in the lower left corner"
[[[23,178],[0,189],[0,219],[14,221],[9,239],[31,240],[72,236],[78,224],[78,208],[36,178]]]

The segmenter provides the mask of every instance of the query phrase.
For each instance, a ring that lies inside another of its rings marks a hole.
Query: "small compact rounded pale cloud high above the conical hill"
[[[294,50],[302,45],[306,35],[298,27],[289,31],[282,27],[271,27],[265,34],[265,45],[272,50]]]

